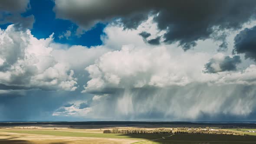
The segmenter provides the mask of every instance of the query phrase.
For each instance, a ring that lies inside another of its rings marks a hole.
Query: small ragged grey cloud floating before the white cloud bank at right
[[[224,56],[223,53],[217,53],[205,64],[205,71],[209,73],[234,71],[236,65],[241,63],[240,56]]]

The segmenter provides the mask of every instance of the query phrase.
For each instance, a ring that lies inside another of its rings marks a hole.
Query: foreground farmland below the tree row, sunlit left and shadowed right
[[[170,136],[170,134],[85,133],[72,130],[0,130],[1,144],[82,144],[85,142],[87,144],[256,144],[254,141],[256,141],[255,136],[220,134],[172,134]]]

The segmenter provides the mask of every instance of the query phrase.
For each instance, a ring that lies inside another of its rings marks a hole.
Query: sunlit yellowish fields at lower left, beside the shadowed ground
[[[132,137],[128,134],[103,134],[105,129],[112,128],[4,128],[0,129],[0,144],[131,144],[167,135],[136,134]]]

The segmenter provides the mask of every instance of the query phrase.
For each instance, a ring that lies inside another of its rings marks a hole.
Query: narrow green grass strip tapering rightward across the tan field
[[[70,131],[40,131],[40,130],[0,130],[3,132],[12,132],[20,134],[45,134],[55,136],[68,137],[103,137],[103,138],[129,138],[134,140],[151,140],[157,139],[169,134],[103,134],[103,133],[85,133],[85,132],[70,132]]]

